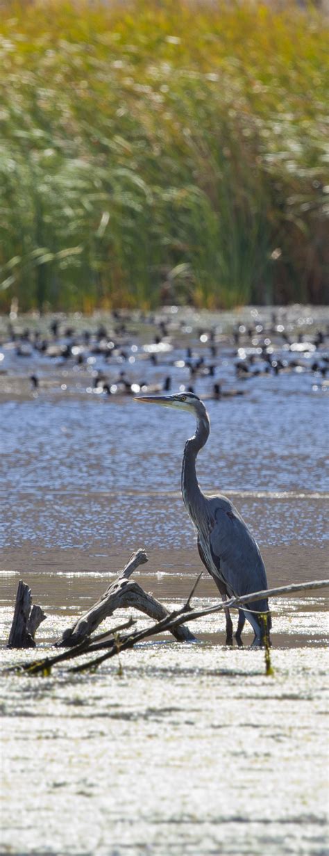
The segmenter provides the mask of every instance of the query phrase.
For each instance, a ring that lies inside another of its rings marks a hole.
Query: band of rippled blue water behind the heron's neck
[[[303,520],[303,538],[319,544],[327,401],[309,393],[284,398],[272,389],[251,396],[209,401],[212,433],[198,462],[200,483],[236,495],[243,514],[246,491],[254,492],[247,506],[252,517],[258,508],[261,541],[286,542]],[[130,544],[138,537],[152,545],[190,538],[179,498],[182,449],[193,431],[188,414],[159,416],[156,407],[145,413],[133,401],[15,401],[1,409],[5,544],[41,536],[49,545],[72,546],[109,526],[110,539],[128,533]]]

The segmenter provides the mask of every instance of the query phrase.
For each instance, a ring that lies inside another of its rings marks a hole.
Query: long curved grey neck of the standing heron
[[[182,464],[182,496],[185,508],[194,523],[197,521],[197,511],[204,502],[202,490],[197,482],[196,460],[197,453],[207,443],[209,437],[209,419],[207,413],[197,419],[197,431],[185,443]]]

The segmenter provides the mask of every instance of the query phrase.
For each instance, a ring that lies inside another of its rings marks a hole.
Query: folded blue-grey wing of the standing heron
[[[250,594],[267,589],[267,576],[261,553],[248,526],[232,502],[225,497],[210,500],[210,549],[213,562],[232,594]],[[256,609],[267,609],[259,602]]]

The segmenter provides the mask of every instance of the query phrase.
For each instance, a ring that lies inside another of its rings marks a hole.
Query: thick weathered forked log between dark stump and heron
[[[113,615],[115,609],[132,606],[144,612],[145,615],[150,615],[150,618],[156,619],[156,621],[162,621],[163,618],[166,618],[169,613],[162,606],[162,603],[159,603],[150,594],[146,594],[141,586],[138,586],[138,583],[129,580],[129,577],[138,568],[138,565],[144,564],[147,561],[148,557],[145,550],[138,550],[136,553],[133,553],[126,567],[120,572],[115,582],[108,586],[102,597],[97,600],[97,603],[94,603],[91,609],[88,609],[88,612],[85,612],[85,615],[82,615],[75,622],[73,627],[69,627],[64,631],[62,639],[56,642],[57,647],[80,645],[84,639],[96,630],[96,627],[98,627],[104,618],[109,618],[109,615]],[[184,627],[184,625],[174,627],[172,633],[179,642],[191,642],[195,640],[188,627]]]

